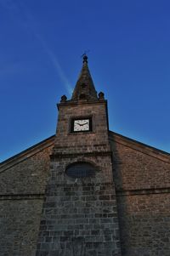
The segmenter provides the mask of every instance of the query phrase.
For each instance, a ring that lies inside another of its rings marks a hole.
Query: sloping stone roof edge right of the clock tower
[[[146,155],[156,157],[164,162],[170,163],[170,154],[166,151],[161,151],[152,147],[150,145],[146,145],[142,142],[139,142],[135,139],[127,138],[121,134],[116,134],[115,132],[109,131],[109,139],[112,141],[116,141],[119,144],[126,145],[127,147],[132,148],[133,150],[140,151]]]

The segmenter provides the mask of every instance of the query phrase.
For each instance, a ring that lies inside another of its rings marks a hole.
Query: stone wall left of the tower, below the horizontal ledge
[[[0,256],[35,256],[42,199],[0,201]]]

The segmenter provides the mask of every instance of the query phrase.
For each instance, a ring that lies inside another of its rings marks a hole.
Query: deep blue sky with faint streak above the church
[[[170,2],[0,0],[0,161],[55,133],[89,49],[110,129],[170,152]]]

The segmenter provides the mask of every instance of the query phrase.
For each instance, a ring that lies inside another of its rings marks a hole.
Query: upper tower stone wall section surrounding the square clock
[[[83,154],[92,151],[111,151],[105,111],[105,101],[59,106],[54,152]],[[88,116],[93,117],[93,132],[72,134],[71,118]]]

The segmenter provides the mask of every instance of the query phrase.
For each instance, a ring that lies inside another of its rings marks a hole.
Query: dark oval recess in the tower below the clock
[[[72,162],[65,168],[65,174],[74,179],[94,178],[97,168],[91,162]]]

